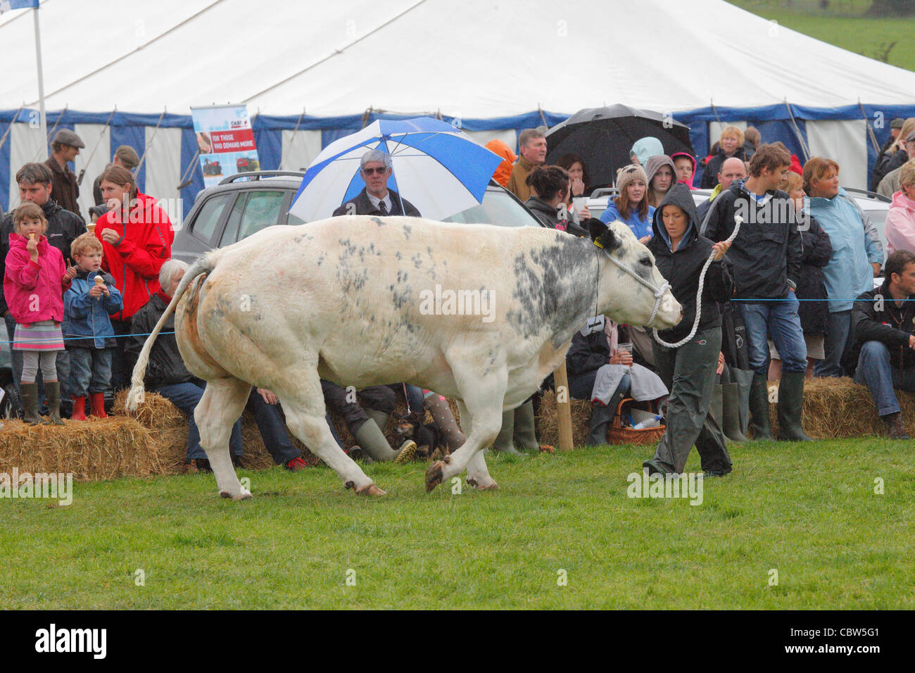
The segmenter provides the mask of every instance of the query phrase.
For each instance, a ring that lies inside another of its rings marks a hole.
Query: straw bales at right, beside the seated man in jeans
[[[777,383],[770,382],[770,386]],[[909,434],[915,436],[915,396],[897,390],[902,418]],[[772,435],[778,431],[776,405],[770,405]],[[883,421],[877,416],[874,398],[867,385],[857,385],[851,378],[814,378],[804,383],[801,424],[814,440],[882,436]]]

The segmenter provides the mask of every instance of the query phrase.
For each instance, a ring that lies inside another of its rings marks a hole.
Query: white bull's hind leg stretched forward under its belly
[[[363,495],[385,495],[359,465],[339,448],[330,433],[324,394],[317,368],[296,369],[283,374],[283,385],[275,385],[274,393],[279,397],[285,413],[286,425],[299,440],[302,440],[330,469],[339,474],[343,485]]]

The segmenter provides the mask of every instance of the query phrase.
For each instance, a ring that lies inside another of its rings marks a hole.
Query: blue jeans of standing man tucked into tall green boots
[[[781,356],[782,372],[807,369],[807,344],[803,340],[798,300],[793,292],[787,299],[773,301],[738,301],[740,314],[747,324],[749,367],[757,374],[769,373],[769,336]]]

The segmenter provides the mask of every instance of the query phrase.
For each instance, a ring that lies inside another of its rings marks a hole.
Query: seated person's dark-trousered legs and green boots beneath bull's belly
[[[372,461],[404,462],[413,458],[416,442],[406,440],[399,450],[393,450],[384,437],[384,426],[394,410],[396,399],[394,391],[387,385],[370,385],[357,394],[342,385],[321,379],[321,390],[324,404],[343,417],[350,434]],[[333,428],[332,425],[330,427]]]

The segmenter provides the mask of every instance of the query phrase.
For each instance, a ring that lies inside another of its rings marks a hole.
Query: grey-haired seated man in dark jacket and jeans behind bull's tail
[[[146,341],[146,334],[153,331],[156,322],[166,312],[178,283],[184,277],[188,265],[178,259],[169,259],[159,269],[159,285],[163,288],[137,310],[131,321],[131,332],[138,336],[128,339],[127,351],[139,355]],[[153,344],[149,353],[149,365],[146,367],[146,390],[167,398],[173,405],[190,417],[188,426],[188,457],[186,464],[196,461],[198,469],[209,470],[210,461],[206,452],[200,447],[200,433],[194,420],[194,409],[197,407],[206,383],[188,372],[188,368],[178,352],[178,341],[175,338],[175,314],[172,313],[162,328],[162,333]],[[229,438],[232,463],[239,464],[242,457],[242,420],[235,421]]]

